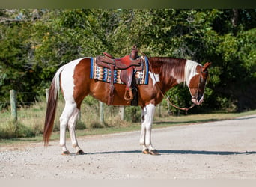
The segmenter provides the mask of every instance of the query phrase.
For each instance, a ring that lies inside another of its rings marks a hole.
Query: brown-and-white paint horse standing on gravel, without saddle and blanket
[[[156,105],[164,95],[175,85],[186,82],[192,96],[192,102],[200,105],[204,99],[204,88],[207,84],[207,68],[211,63],[202,66],[195,61],[167,58],[148,58],[149,76],[147,85],[137,85],[138,105],[141,106],[141,135],[139,143],[144,154],[159,154],[151,143],[151,126]],[[60,145],[62,154],[70,154],[66,147],[65,131],[68,126],[70,138],[76,154],[84,154],[76,139],[76,121],[79,116],[82,100],[91,95],[101,102],[107,103],[109,98],[109,83],[90,78],[91,58],[79,58],[60,67],[52,79],[49,89],[49,99],[46,109],[46,120],[43,131],[45,146],[49,144],[57,107],[58,91],[64,95],[65,106],[60,117]],[[124,99],[126,85],[115,84],[112,105],[130,105]]]

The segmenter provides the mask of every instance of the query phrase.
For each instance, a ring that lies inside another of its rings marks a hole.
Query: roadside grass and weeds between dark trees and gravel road
[[[91,104],[88,104],[91,103]],[[199,106],[200,107],[200,106]],[[45,117],[46,102],[36,102],[28,108],[19,108],[18,121],[10,120],[10,111],[0,113],[0,144],[11,142],[42,141],[43,124]],[[64,108],[63,99],[58,101],[58,111],[55,117],[55,126],[51,139],[59,138],[59,120],[61,111]],[[141,109],[139,107],[126,107],[124,120],[121,120],[118,113],[119,108],[104,105],[105,123],[100,123],[99,102],[91,96],[82,104],[82,111],[79,121],[76,124],[77,135],[97,135],[115,132],[126,132],[139,130],[141,128]],[[162,103],[156,108],[153,128],[165,126],[186,125],[192,123],[205,123],[216,120],[227,120],[235,117],[256,114],[256,111],[242,113],[228,111],[207,111],[207,114],[188,114],[181,112],[170,114],[168,108]],[[67,130],[68,131],[68,130]],[[67,136],[69,133],[67,132]]]

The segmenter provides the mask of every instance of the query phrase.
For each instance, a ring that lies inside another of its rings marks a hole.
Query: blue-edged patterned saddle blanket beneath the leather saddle
[[[143,56],[143,68],[141,71],[136,70],[135,79],[138,85],[148,84],[148,59]],[[121,70],[114,70],[114,83],[124,84],[120,79]],[[96,64],[96,58],[91,57],[91,79],[96,79],[103,82],[110,82],[111,70],[106,67],[100,67]]]

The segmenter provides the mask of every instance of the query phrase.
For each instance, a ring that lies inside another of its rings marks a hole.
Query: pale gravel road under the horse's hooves
[[[0,179],[256,179],[256,115],[153,129],[159,156],[141,153],[139,133],[80,137],[82,156],[61,156],[58,141],[0,147]]]

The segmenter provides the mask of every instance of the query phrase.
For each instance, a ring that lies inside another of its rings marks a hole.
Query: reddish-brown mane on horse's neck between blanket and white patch
[[[184,82],[186,59],[169,57],[152,57],[149,59],[155,73],[160,73],[162,82],[170,83],[171,78],[177,83]]]

